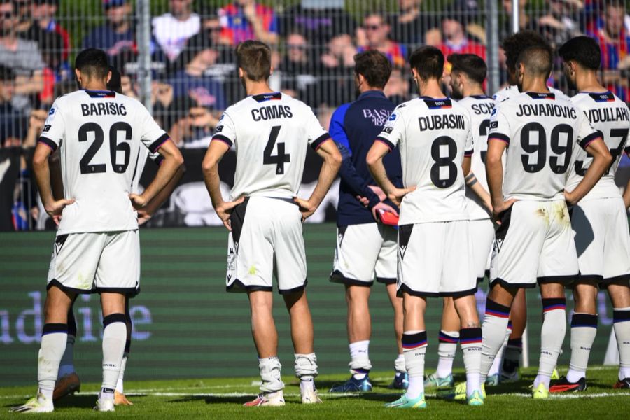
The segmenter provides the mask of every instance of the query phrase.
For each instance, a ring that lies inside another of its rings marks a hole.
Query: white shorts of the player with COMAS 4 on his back
[[[290,199],[247,197],[230,217],[228,292],[303,290],[307,284],[302,214]]]

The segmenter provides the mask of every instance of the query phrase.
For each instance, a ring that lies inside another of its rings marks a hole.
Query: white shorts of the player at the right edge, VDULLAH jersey
[[[570,211],[580,279],[605,285],[630,279],[630,233],[622,197],[580,202]]]

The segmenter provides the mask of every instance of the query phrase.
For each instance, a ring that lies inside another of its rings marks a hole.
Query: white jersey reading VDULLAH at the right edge
[[[612,94],[612,92],[590,93],[580,92],[571,98],[575,107],[585,113],[591,125],[601,132],[610,154],[614,159],[612,165],[592,190],[582,198],[582,201],[591,198],[619,197],[619,188],[615,184],[615,172],[619,167],[624,149],[630,147],[630,112],[628,106]],[[566,188],[572,191],[586,174],[593,162],[592,156],[586,151],[578,149],[573,154],[573,162],[570,167]]]

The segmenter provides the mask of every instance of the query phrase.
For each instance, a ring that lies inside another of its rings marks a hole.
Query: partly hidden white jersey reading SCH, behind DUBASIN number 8
[[[458,104],[468,109],[472,123],[472,143],[475,151],[472,153],[470,170],[475,174],[477,182],[488,191],[486,179],[486,153],[488,151],[488,129],[490,127],[490,113],[494,109],[494,100],[486,95],[474,95],[461,99]],[[468,215],[471,221],[490,218],[479,197],[466,188],[468,198]]]

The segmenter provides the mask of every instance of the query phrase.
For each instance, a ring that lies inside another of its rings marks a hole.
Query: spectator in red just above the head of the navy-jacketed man
[[[390,26],[381,15],[367,15],[363,27],[357,29],[358,52],[379,50],[391,62],[392,66],[402,68],[407,59],[407,48],[389,39]]]

